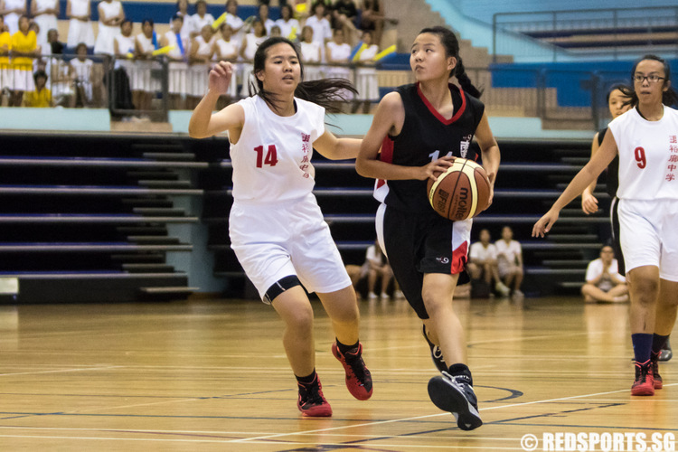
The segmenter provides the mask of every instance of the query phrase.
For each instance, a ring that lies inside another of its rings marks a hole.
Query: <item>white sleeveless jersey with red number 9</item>
[[[664,106],[658,121],[636,108],[609,123],[619,152],[617,198],[678,199],[678,111]]]

